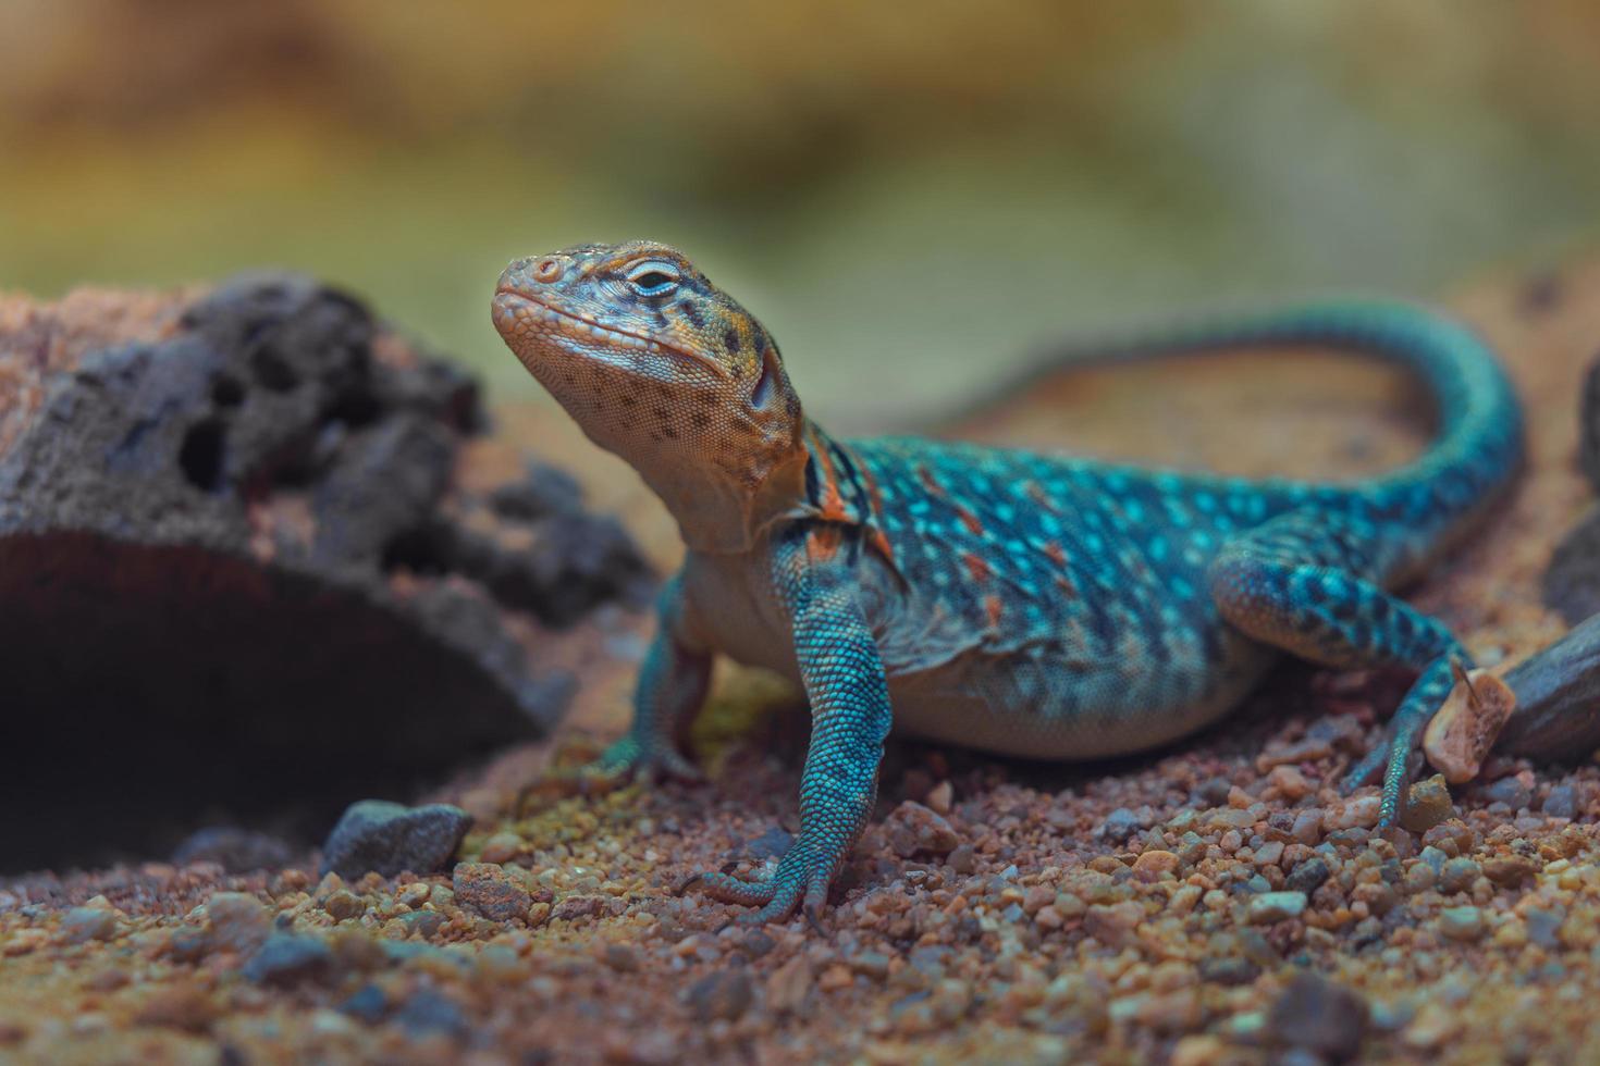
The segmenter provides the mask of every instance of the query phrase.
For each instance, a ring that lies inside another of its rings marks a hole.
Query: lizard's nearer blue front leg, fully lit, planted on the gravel
[[[890,694],[878,646],[854,587],[819,556],[811,537],[774,555],[774,585],[794,628],[795,660],[811,703],[811,746],[800,777],[800,836],[765,881],[723,873],[701,874],[704,890],[726,903],[760,906],[747,924],[787,917],[805,903],[813,922],[827,901],[827,885],[872,813],[883,738],[890,732]],[[810,550],[808,550],[810,548]]]

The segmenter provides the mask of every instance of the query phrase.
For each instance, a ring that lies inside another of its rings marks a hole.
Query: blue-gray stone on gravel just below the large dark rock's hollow
[[[405,807],[384,799],[350,804],[323,844],[323,873],[354,881],[368,871],[384,877],[410,869],[430,874],[443,869],[472,815],[450,804]]]

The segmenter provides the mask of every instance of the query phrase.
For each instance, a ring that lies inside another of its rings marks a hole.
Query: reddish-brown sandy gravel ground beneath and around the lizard
[[[1539,603],[1590,505],[1576,395],[1600,265],[1507,278],[1454,307],[1502,348],[1530,470],[1414,595],[1490,665],[1563,631]],[[1240,473],[1352,476],[1422,440],[1394,377],[1230,356],[1078,374],[957,427]],[[653,555],[672,527],[626,468],[542,408],[504,440],[582,475]],[[1331,788],[1392,679],[1288,665],[1222,726],[1091,766],[893,743],[878,817],[821,930],[726,927],[678,895],[755,871],[795,826],[805,721],[722,670],[696,730],[707,785],[582,788],[622,729],[646,620],[573,641],[558,737],[437,798],[477,818],[454,871],[210,865],[0,884],[0,1060],[16,1061],[1594,1061],[1600,772],[1494,759],[1418,831]],[[307,743],[312,743],[307,738]]]

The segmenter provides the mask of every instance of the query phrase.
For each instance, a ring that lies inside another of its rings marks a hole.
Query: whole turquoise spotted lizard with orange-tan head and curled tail
[[[1285,310],[1104,353],[1306,342],[1400,364],[1432,392],[1438,440],[1352,486],[834,440],[803,416],[760,323],[650,241],[514,262],[494,323],[666,502],[688,547],[632,730],[603,766],[694,774],[674,737],[714,654],[805,687],[800,836],[770,879],[699,879],[758,908],[755,922],[824,906],[872,810],[891,722],[1005,754],[1122,754],[1216,721],[1285,652],[1416,674],[1390,740],[1350,775],[1382,767],[1392,823],[1451,662],[1470,657],[1389,590],[1482,516],[1522,459],[1522,411],[1491,352],[1403,305]]]

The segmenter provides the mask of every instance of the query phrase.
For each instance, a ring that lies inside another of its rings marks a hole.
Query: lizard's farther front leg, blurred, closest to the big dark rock
[[[678,737],[706,702],[710,652],[690,639],[685,623],[683,574],[675,574],[656,599],[656,638],[645,654],[634,690],[634,726],[598,759],[606,774],[651,774],[698,780],[694,764],[678,751]]]

